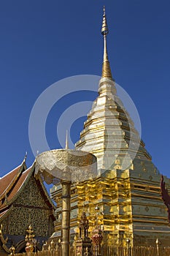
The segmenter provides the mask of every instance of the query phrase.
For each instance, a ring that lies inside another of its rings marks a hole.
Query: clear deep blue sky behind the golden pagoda
[[[153,162],[170,177],[169,0],[0,2],[0,176],[19,165],[26,151],[27,164],[34,161],[28,120],[39,94],[72,75],[101,75],[104,4],[112,73],[134,100],[142,140]],[[96,94],[84,94],[80,100],[88,97],[95,99]],[[66,105],[68,102],[66,99]],[[47,137],[52,147],[58,148],[53,124],[58,114],[54,110],[48,119]],[[72,140],[79,138],[82,119],[75,124]]]

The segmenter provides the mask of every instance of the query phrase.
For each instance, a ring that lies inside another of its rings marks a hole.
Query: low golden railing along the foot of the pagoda
[[[19,253],[16,256],[61,256],[60,249],[49,249],[42,252]],[[92,249],[92,256],[96,256],[95,248]],[[169,256],[170,247],[161,246],[134,246],[117,247],[101,246],[101,256]],[[76,256],[74,247],[71,248],[70,256]]]

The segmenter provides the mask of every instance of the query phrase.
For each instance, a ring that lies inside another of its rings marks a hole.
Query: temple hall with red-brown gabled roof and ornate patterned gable
[[[34,247],[42,244],[52,235],[55,206],[43,181],[34,177],[35,164],[22,164],[0,178],[0,255],[9,255],[9,248],[15,252],[26,252],[26,230],[31,225],[35,234]]]

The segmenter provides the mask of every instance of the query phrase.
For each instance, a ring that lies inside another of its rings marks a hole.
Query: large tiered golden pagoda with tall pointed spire
[[[128,241],[131,246],[147,246],[155,244],[158,238],[162,245],[169,246],[170,227],[161,200],[161,175],[117,96],[107,53],[108,32],[104,10],[104,59],[98,97],[75,144],[76,149],[97,157],[98,176],[72,185],[71,241],[78,236],[83,209],[92,236],[98,206],[104,244],[123,246]],[[165,181],[169,187],[169,178]],[[51,195],[57,202],[52,236],[57,240],[61,237],[61,185],[54,186]]]

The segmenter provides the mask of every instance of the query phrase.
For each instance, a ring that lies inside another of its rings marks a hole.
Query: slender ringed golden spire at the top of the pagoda
[[[103,60],[101,78],[109,78],[113,80],[112,72],[109,66],[108,53],[107,53],[107,34],[109,34],[109,29],[107,27],[107,17],[106,17],[105,7],[104,7],[103,22],[101,27],[101,34],[104,36],[104,60]]]

